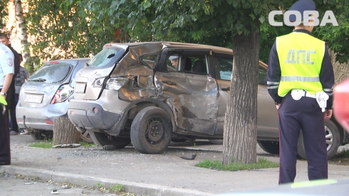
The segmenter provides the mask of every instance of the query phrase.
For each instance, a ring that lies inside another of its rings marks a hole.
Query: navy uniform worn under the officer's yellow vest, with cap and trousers
[[[315,10],[315,4],[313,1],[300,0],[293,4],[290,10],[297,10],[303,14],[304,10]],[[293,32],[311,35],[311,32],[303,29],[294,30]],[[280,44],[278,46],[283,46],[288,49],[285,45],[286,44]],[[333,100],[332,87],[334,83],[333,67],[328,48],[325,45],[324,47],[325,53],[323,61],[315,63],[321,63],[319,79],[323,89],[330,89],[325,91],[325,93],[328,93],[329,96],[326,109],[331,109]],[[278,109],[280,130],[279,184],[293,182],[296,177],[297,143],[300,130],[302,130],[303,133],[308,160],[308,179],[317,180],[328,178],[323,112],[316,98],[303,96],[300,100],[294,100],[291,97],[291,92],[288,92],[286,96],[279,96],[278,83],[280,81],[281,66],[276,43],[274,43],[269,56],[268,91],[276,104],[281,103]]]

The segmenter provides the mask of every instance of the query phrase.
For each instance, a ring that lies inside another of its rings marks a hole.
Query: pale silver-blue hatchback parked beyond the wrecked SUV
[[[36,140],[53,137],[55,118],[66,117],[74,97],[75,75],[90,58],[71,58],[43,63],[21,86],[16,120]],[[88,132],[80,140],[92,143]]]

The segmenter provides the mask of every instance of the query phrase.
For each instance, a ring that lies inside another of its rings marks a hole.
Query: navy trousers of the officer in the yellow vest
[[[293,100],[288,93],[278,110],[280,130],[279,184],[293,182],[296,177],[297,143],[303,133],[308,179],[328,177],[327,149],[323,113],[315,98]]]

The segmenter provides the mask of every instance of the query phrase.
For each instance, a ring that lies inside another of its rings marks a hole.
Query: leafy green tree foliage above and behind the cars
[[[324,13],[332,10],[339,27],[316,27],[318,38],[348,60],[348,3],[316,1]],[[1,1],[2,3],[2,1]],[[1,5],[0,3],[0,5]],[[53,58],[91,56],[109,42],[179,41],[232,48],[233,35],[261,33],[260,58],[267,62],[276,36],[292,27],[269,25],[273,10],[287,10],[294,1],[254,0],[58,0],[29,1],[28,31],[37,41],[29,62],[41,66]],[[2,3],[3,4],[3,3]],[[322,19],[322,18],[321,18]],[[276,16],[282,21],[282,16]],[[56,48],[62,52],[56,52]]]

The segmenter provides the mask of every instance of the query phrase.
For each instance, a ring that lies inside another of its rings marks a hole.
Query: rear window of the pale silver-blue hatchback
[[[67,63],[45,64],[34,72],[28,81],[58,83],[66,79],[72,68],[73,65]]]

